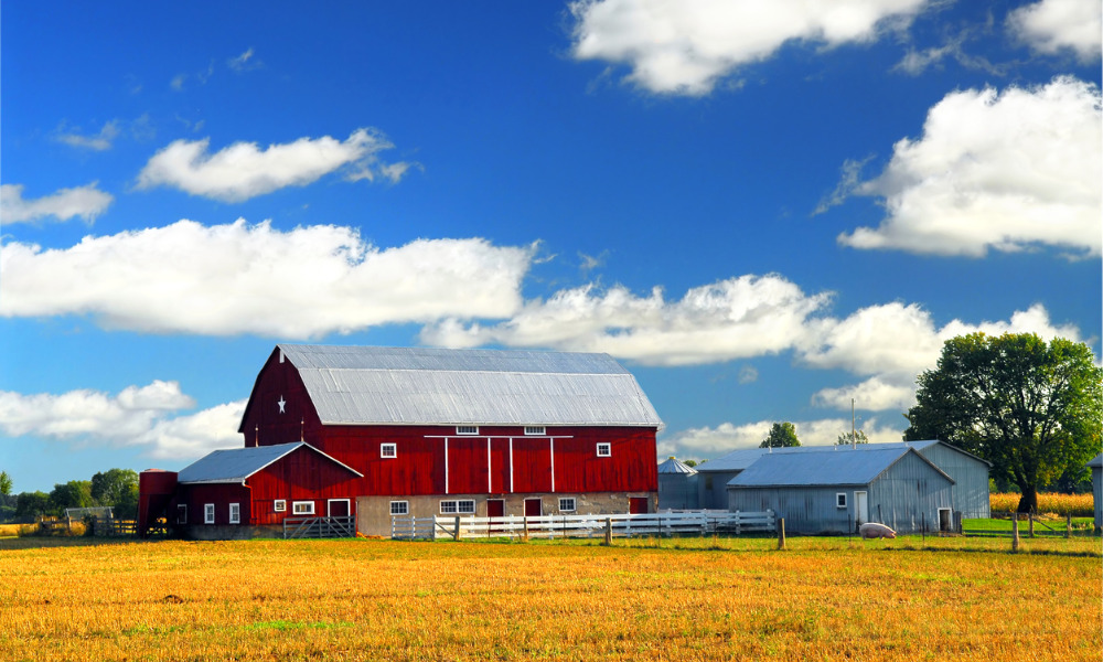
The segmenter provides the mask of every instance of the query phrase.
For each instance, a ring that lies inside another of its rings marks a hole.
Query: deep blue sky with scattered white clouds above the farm
[[[1103,355],[1100,14],[4,2],[0,470],[239,447],[281,342],[606,352],[657,459],[899,440],[949,338]]]

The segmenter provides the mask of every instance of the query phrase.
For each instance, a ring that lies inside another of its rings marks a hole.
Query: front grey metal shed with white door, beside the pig
[[[786,531],[803,534],[848,533],[866,522],[902,533],[956,528],[952,478],[914,448],[870,446],[764,453],[728,482],[728,508],[772,510]]]

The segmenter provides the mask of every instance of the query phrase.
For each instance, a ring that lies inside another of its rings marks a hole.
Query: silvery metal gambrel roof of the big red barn
[[[280,344],[323,424],[663,427],[608,354]]]

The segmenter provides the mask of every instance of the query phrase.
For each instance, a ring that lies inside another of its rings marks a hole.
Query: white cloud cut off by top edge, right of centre
[[[827,47],[869,42],[907,25],[925,0],[582,0],[572,2],[577,60],[632,68],[628,81],[660,94],[699,96],[742,64],[788,42]]]

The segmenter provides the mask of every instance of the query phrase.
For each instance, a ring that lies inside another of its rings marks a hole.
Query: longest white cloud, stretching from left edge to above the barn
[[[521,307],[534,252],[484,239],[381,249],[349,227],[180,221],[63,249],[0,246],[0,316],[90,314],[110,329],[279,338],[501,319]]]

